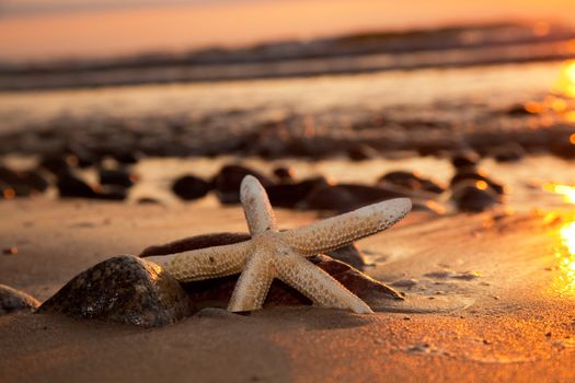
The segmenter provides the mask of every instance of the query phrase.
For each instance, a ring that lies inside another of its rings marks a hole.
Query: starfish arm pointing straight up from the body
[[[250,233],[253,235],[272,230],[276,231],[276,218],[264,187],[252,175],[242,179],[241,200]]]

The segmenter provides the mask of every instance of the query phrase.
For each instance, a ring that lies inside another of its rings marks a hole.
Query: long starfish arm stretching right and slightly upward
[[[390,199],[279,235],[301,255],[324,253],[388,229],[405,217],[411,207],[409,198]]]

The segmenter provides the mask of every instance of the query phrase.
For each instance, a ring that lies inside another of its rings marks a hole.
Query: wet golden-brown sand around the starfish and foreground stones
[[[317,219],[277,216],[283,228]],[[0,255],[0,283],[41,301],[116,254],[245,230],[240,208],[207,204],[28,199],[1,202],[0,217],[0,247],[19,248]],[[568,211],[414,213],[359,242],[376,262],[369,275],[416,281],[399,288],[407,294],[406,313],[299,306],[240,316],[208,310],[151,329],[44,314],[0,316],[0,381],[573,381],[571,222]]]

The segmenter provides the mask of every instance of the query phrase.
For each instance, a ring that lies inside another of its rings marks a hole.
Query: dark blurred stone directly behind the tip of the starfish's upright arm
[[[216,195],[221,204],[240,202],[240,185],[246,175],[256,177],[264,187],[269,187],[274,183],[265,175],[242,165],[226,165],[214,177]]]

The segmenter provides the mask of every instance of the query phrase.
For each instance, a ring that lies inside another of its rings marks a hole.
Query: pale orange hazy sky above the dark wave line
[[[0,0],[0,60],[180,51],[468,22],[565,21],[574,0]]]

